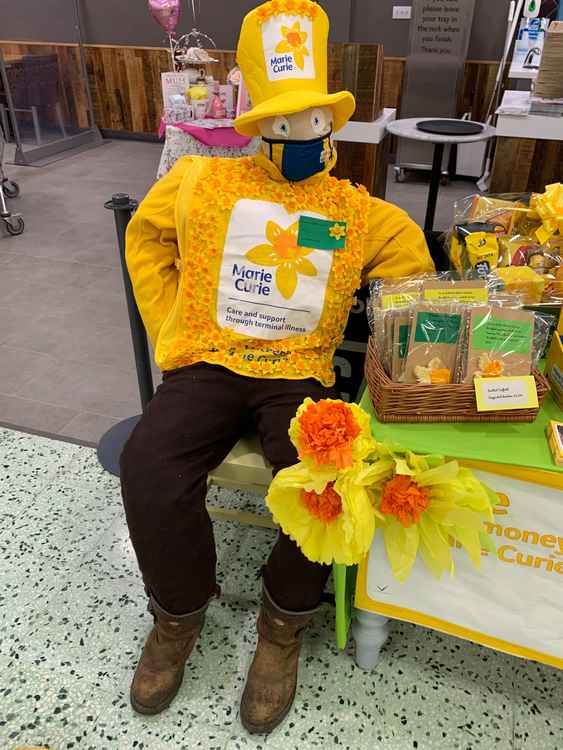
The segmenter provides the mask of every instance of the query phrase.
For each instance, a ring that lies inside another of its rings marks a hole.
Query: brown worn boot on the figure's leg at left
[[[158,714],[174,700],[184,667],[205,620],[206,604],[197,612],[175,616],[150,599],[154,616],[141,660],[131,683],[131,705],[140,714]]]

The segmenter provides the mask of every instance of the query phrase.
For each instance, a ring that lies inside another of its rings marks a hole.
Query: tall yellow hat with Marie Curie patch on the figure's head
[[[311,0],[270,0],[243,21],[237,63],[253,108],[235,120],[242,135],[260,135],[258,122],[312,107],[330,107],[333,130],[356,108],[349,91],[328,93],[329,20]]]

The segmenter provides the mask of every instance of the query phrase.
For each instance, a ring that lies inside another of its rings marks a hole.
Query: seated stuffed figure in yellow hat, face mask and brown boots
[[[249,13],[237,62],[253,109],[235,126],[260,135],[261,152],[180,159],[129,226],[129,271],[163,371],[122,456],[155,621],[131,686],[143,714],[178,692],[218,591],[208,473],[249,426],[274,473],[295,464],[290,420],[306,397],[336,397],[332,360],[356,290],[433,269],[402,210],[330,175],[332,136],[355,103],[347,91],[327,93],[328,30],[309,0]],[[291,708],[303,634],[329,573],[280,533],[242,697],[251,733],[270,732]]]

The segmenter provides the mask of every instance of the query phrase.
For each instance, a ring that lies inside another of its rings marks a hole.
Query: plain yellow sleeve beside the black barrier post
[[[153,346],[178,291],[176,198],[190,159],[179,159],[149,191],[127,228],[125,258]]]

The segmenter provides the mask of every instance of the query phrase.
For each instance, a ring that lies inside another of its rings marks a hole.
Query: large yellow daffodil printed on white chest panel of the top
[[[258,266],[278,269],[276,286],[285,299],[290,299],[295,294],[299,274],[317,276],[317,269],[306,257],[313,250],[297,244],[298,229],[297,221],[287,229],[269,221],[266,225],[266,239],[270,244],[257,245],[245,256]]]

